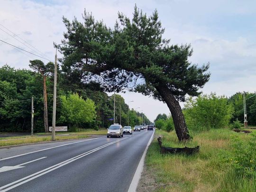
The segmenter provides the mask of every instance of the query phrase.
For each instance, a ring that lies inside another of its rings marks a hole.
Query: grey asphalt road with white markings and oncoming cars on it
[[[0,192],[127,192],[152,134],[0,149]]]

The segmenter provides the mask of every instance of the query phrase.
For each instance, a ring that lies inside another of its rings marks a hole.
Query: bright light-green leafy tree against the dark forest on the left
[[[69,125],[84,125],[95,121],[95,105],[90,99],[83,100],[78,94],[71,94],[68,97],[61,96],[61,117],[59,123],[65,121]]]

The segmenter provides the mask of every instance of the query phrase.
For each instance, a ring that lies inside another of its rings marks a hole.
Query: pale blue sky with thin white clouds
[[[229,97],[236,92],[256,91],[255,0],[0,0],[0,40],[54,60],[53,42],[60,43],[66,31],[63,16],[82,21],[86,9],[95,19],[113,27],[118,11],[131,17],[135,4],[147,16],[157,9],[165,27],[163,36],[171,44],[191,44],[192,64],[210,63],[210,81],[201,90],[204,94],[216,92]],[[8,64],[28,69],[32,59],[48,62],[0,42],[0,67]],[[159,113],[170,113],[165,103],[140,93],[121,95],[126,103],[133,100],[129,107],[143,110],[151,121]]]

